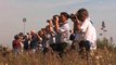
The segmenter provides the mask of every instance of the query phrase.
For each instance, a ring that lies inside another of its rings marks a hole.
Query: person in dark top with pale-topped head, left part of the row
[[[33,53],[37,51],[38,36],[35,30],[30,30],[30,50]]]

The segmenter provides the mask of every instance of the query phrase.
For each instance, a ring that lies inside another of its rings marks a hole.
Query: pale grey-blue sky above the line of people
[[[31,29],[38,31],[47,25],[54,14],[61,12],[75,13],[85,8],[99,34],[102,21],[108,30],[105,37],[116,41],[116,0],[0,0],[0,44],[11,47],[14,35]],[[72,28],[73,23],[68,21]]]

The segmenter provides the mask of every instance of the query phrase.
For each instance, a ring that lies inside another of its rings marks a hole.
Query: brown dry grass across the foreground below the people
[[[18,55],[14,57],[11,52],[9,55],[2,56],[0,53],[0,65],[115,65],[116,51],[98,49],[89,58],[81,58],[78,52],[72,51],[61,58],[57,53],[47,53],[43,55],[41,52],[36,54]]]

